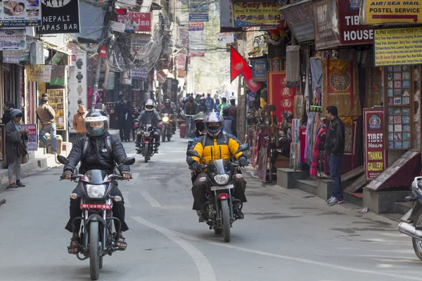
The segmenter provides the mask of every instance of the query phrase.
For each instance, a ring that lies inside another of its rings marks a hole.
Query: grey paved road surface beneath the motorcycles
[[[124,145],[133,155],[134,144]],[[128,249],[104,259],[100,280],[422,280],[422,262],[397,223],[254,178],[245,219],[224,243],[191,211],[186,141],[177,136],[160,152],[148,164],[136,156],[136,180],[120,184]],[[0,280],[89,280],[89,262],[67,254],[75,183],[60,174],[44,171],[1,194]]]

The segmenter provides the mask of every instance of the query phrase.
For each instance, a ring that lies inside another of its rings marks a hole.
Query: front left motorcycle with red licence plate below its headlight
[[[63,155],[57,156],[58,162],[68,164],[69,160]],[[134,157],[126,157],[122,163],[116,166],[119,170],[122,165],[132,165]],[[84,261],[89,259],[91,280],[98,280],[99,271],[103,268],[103,257],[107,254],[111,256],[117,251],[118,233],[120,233],[120,220],[113,217],[113,201],[120,202],[122,197],[110,196],[111,190],[115,187],[113,180],[121,179],[119,174],[108,175],[105,171],[91,170],[84,175],[77,173],[77,168],[72,166],[74,174],[72,181],[78,183],[82,195],[72,193],[70,198],[80,198],[82,217],[77,217],[72,221],[73,233],[75,233],[75,223],[81,223],[82,228],[79,235],[80,240],[75,240],[80,251],[77,259]],[[64,178],[60,178],[60,181]],[[118,229],[113,232],[112,221],[118,222]],[[79,256],[82,253],[83,257]]]

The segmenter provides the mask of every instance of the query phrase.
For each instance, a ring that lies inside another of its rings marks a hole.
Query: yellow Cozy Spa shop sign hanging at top
[[[233,3],[234,27],[266,27],[279,25],[281,4],[274,1]]]

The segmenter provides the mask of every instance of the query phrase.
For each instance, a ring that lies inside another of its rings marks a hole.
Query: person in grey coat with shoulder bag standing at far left
[[[22,121],[22,111],[12,110],[12,120],[6,125],[6,159],[8,162],[8,181],[7,188],[19,188],[25,185],[20,181],[20,164],[22,163],[23,155],[20,150],[20,145],[25,145],[24,137],[28,133],[26,129],[22,129],[20,122]],[[25,156],[26,157],[26,156]],[[13,181],[13,169],[16,173],[16,183]]]

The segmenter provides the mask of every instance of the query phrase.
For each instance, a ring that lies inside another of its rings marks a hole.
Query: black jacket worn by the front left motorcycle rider
[[[110,136],[111,150],[106,145],[106,137]],[[126,152],[122,143],[110,133],[106,132],[98,137],[89,137],[89,145],[87,151],[84,153],[85,138],[79,138],[76,143],[73,143],[72,150],[68,156],[69,164],[76,166],[81,162],[79,174],[85,174],[89,170],[102,170],[108,174],[114,174],[113,169],[115,163],[120,164],[126,157]],[[72,166],[66,164],[63,171],[73,171]],[[129,166],[120,166],[121,171],[130,171]]]

